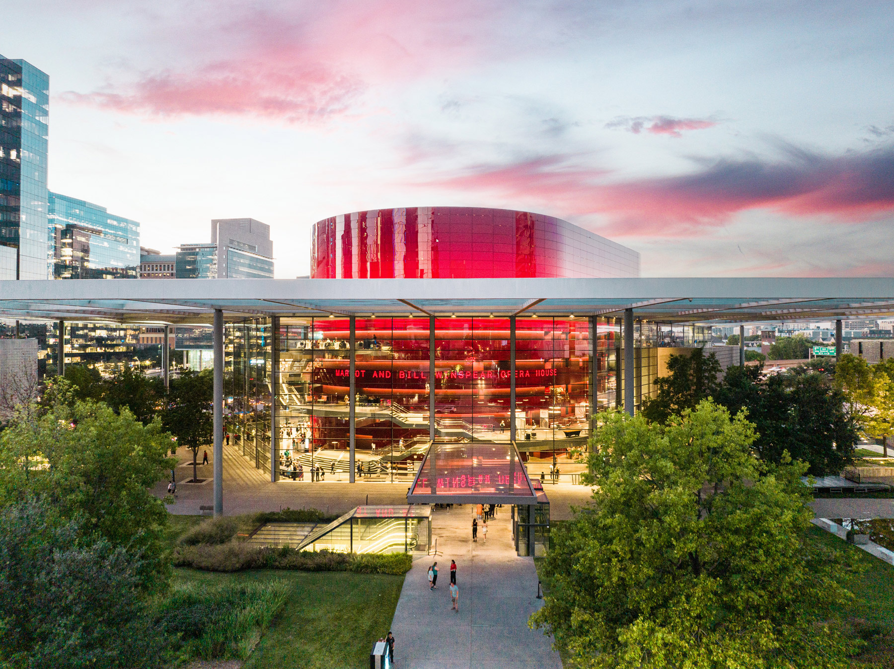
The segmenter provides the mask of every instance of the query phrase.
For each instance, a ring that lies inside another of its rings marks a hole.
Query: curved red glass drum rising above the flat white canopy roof
[[[314,225],[312,279],[636,277],[639,254],[541,213],[404,207]]]

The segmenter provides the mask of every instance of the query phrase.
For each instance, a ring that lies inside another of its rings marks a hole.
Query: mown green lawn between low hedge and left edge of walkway
[[[366,669],[373,643],[388,633],[403,586],[403,576],[347,572],[222,574],[175,569],[173,578],[175,583],[195,583],[199,588],[222,583],[286,584],[285,605],[244,669]]]

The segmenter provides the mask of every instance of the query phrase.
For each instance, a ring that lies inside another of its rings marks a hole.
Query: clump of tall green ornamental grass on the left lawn
[[[175,635],[187,658],[246,659],[288,595],[283,581],[272,583],[185,583],[157,607],[165,631]]]

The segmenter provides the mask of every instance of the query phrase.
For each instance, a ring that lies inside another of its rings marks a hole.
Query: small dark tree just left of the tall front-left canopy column
[[[170,431],[177,443],[192,451],[192,480],[197,479],[198,449],[214,439],[214,372],[183,372],[171,380],[171,390],[164,408],[164,429]]]

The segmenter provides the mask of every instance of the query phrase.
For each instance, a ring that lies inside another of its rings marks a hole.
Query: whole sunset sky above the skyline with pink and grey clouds
[[[894,4],[0,0],[50,189],[162,252],[214,218],[558,216],[643,276],[894,275]]]

